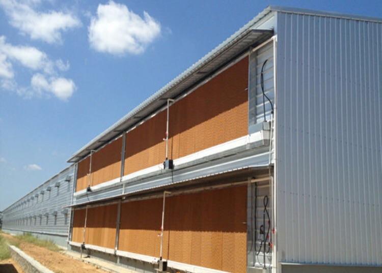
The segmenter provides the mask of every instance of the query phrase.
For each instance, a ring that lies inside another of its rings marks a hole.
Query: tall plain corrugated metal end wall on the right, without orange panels
[[[382,264],[382,24],[279,12],[279,261]]]

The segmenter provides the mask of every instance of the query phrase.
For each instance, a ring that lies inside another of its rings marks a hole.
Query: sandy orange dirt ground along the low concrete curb
[[[6,238],[12,240],[12,236],[2,234]],[[18,246],[23,252],[37,260],[39,263],[56,273],[106,273],[107,271],[97,268],[91,264],[85,263],[69,257],[61,252],[50,251],[46,248],[38,247],[27,242],[21,242]],[[9,261],[9,260],[7,260]],[[4,262],[4,261],[3,261]],[[1,265],[0,265],[1,266]],[[8,266],[11,268],[11,266]],[[16,267],[17,268],[17,267]],[[11,268],[12,269],[12,268]],[[4,271],[0,267],[1,273],[24,273],[23,271]]]

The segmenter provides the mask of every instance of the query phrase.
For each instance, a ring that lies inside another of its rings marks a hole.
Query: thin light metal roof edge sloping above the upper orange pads
[[[192,75],[193,73],[196,73],[198,69],[203,67],[205,64],[207,64],[214,56],[216,56],[221,51],[229,48],[232,44],[234,44],[237,40],[239,40],[241,37],[245,36],[249,31],[251,31],[251,27],[258,22],[261,18],[263,18],[266,14],[270,12],[270,8],[267,7],[262,12],[260,12],[255,18],[253,18],[251,21],[249,21],[247,24],[245,24],[243,27],[241,27],[237,32],[235,32],[233,35],[231,35],[228,39],[226,39],[223,43],[221,43],[219,46],[212,49],[209,53],[207,53],[205,56],[203,56],[201,59],[198,60],[195,64],[190,66],[188,69],[186,69],[183,73],[181,73],[179,76],[174,78],[172,81],[170,81],[168,84],[160,88],[157,92],[155,92],[153,95],[151,95],[148,99],[146,99],[144,102],[142,102],[140,105],[132,109],[130,112],[128,112],[125,116],[123,116],[121,119],[118,120],[114,125],[107,128],[105,131],[103,131],[101,134],[93,138],[90,142],[88,142],[85,146],[80,148],[76,153],[74,153],[70,159],[67,160],[67,162],[77,162],[79,160],[78,155],[83,153],[85,150],[89,149],[89,147],[96,142],[98,142],[102,137],[106,136],[108,133],[111,133],[112,131],[116,130],[119,126],[121,126],[124,122],[126,122],[128,119],[133,118],[135,115],[137,115],[140,111],[145,109],[147,106],[150,105],[153,101],[158,100],[160,97],[163,97],[166,95],[166,93],[170,92],[170,90],[180,83],[184,78],[186,78],[189,75]],[[90,153],[90,151],[89,151]]]

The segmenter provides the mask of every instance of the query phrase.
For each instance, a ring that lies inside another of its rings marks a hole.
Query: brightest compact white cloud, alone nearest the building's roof
[[[160,24],[147,12],[142,18],[125,5],[110,1],[99,4],[97,16],[91,18],[89,43],[100,52],[140,54],[159,34]]]

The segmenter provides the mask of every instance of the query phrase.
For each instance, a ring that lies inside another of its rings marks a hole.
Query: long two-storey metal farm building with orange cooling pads
[[[270,6],[3,229],[48,234],[34,223],[69,211],[51,235],[140,272],[381,272],[381,106],[382,19]]]

